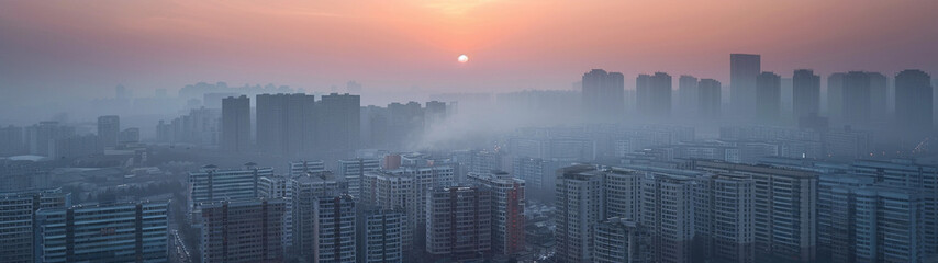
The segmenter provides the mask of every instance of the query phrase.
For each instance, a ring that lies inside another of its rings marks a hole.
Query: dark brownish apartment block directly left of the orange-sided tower
[[[426,195],[426,252],[447,262],[482,260],[492,250],[492,192],[474,186]]]

